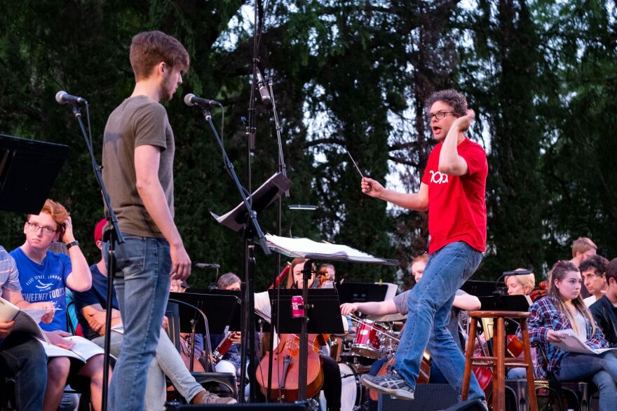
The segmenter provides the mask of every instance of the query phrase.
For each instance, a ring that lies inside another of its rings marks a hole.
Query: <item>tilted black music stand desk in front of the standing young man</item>
[[[250,203],[251,208],[259,215],[259,213],[262,213],[262,211],[273,203],[281,194],[285,191],[289,191],[290,187],[292,187],[291,180],[285,177],[283,173],[276,173],[248,198],[249,202],[252,201],[252,203]],[[240,229],[243,229],[246,224],[246,214],[246,207],[243,201],[225,215],[216,215],[210,211],[210,215],[215,217],[217,222],[233,231],[240,231]]]

